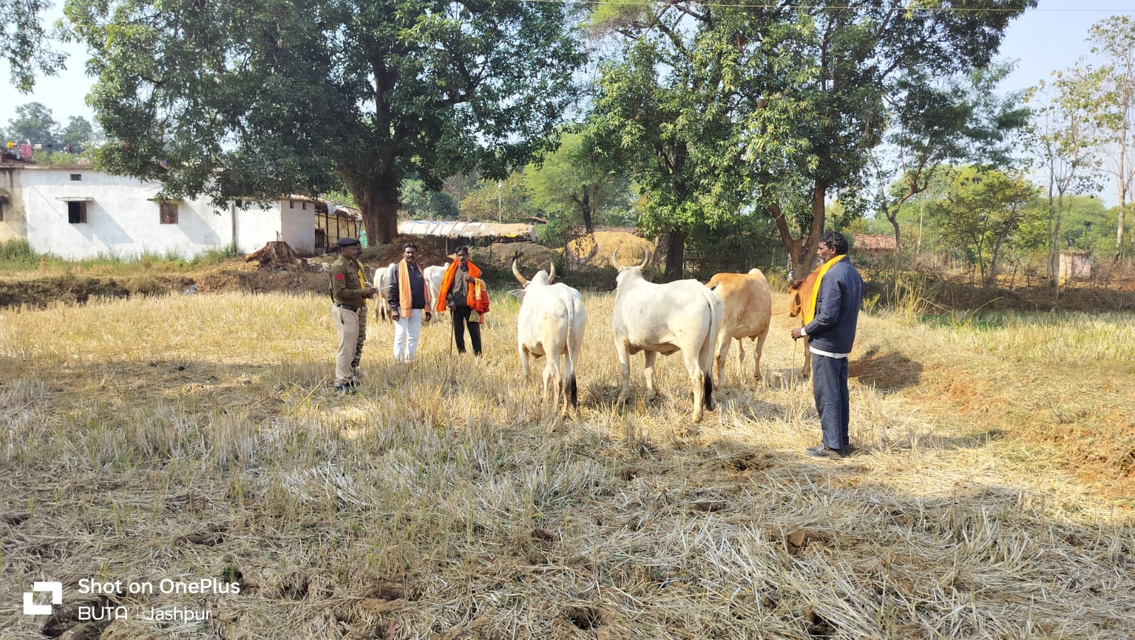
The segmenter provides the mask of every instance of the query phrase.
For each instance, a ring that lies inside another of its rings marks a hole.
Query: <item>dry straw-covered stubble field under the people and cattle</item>
[[[767,385],[734,356],[693,426],[676,357],[646,403],[637,356],[612,406],[611,296],[585,295],[566,419],[539,369],[520,379],[503,293],[480,360],[442,322],[395,365],[372,320],[355,396],[330,390],[321,296],[0,311],[0,637],[1133,635],[1130,314],[867,313],[860,450],[825,461],[804,455],[819,428],[787,315]],[[22,613],[36,580],[64,584],[50,617]]]

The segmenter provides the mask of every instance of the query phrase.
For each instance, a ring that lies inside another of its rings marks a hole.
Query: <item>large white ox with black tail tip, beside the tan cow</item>
[[[654,397],[654,363],[658,354],[681,351],[693,387],[693,421],[701,420],[701,409],[713,410],[714,344],[722,322],[721,298],[697,280],[655,285],[642,277],[650,260],[646,252],[638,267],[620,267],[619,251],[611,263],[619,269],[615,280],[615,351],[623,370],[619,402],[630,396],[630,356],[644,352],[647,396]]]

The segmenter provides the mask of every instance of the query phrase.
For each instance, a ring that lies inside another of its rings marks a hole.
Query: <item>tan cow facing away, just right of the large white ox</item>
[[[706,285],[717,294],[724,306],[721,331],[714,347],[714,361],[717,365],[717,384],[724,385],[725,356],[729,345],[737,338],[738,362],[745,367],[745,346],[742,338],[757,342],[754,352],[756,363],[753,377],[760,380],[760,352],[768,337],[768,323],[773,313],[773,294],[768,280],[760,269],[749,269],[748,273],[717,273]]]

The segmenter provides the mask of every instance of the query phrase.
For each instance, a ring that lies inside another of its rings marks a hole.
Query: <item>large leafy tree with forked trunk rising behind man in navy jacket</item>
[[[871,151],[890,123],[889,108],[908,123],[920,119],[925,129],[924,111],[943,107],[918,99],[933,94],[935,78],[989,66],[1009,22],[1036,3],[976,5],[855,0],[763,12],[783,24],[793,11],[798,25],[755,30],[781,54],[765,58],[764,93],[756,96],[747,136],[750,157],[762,167],[763,204],[794,267],[812,263],[833,193],[849,213],[866,205],[856,196],[865,186]],[[957,116],[951,121],[969,124]],[[796,138],[791,144],[782,142],[785,130]]]

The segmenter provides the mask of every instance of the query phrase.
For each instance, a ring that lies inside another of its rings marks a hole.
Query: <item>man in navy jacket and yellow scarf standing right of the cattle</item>
[[[863,278],[847,255],[843,234],[824,231],[816,255],[824,261],[810,300],[801,301],[804,327],[792,329],[792,339],[807,337],[812,352],[812,393],[819,413],[823,444],[809,447],[816,457],[846,457],[848,437],[848,356],[855,343],[863,300]]]

